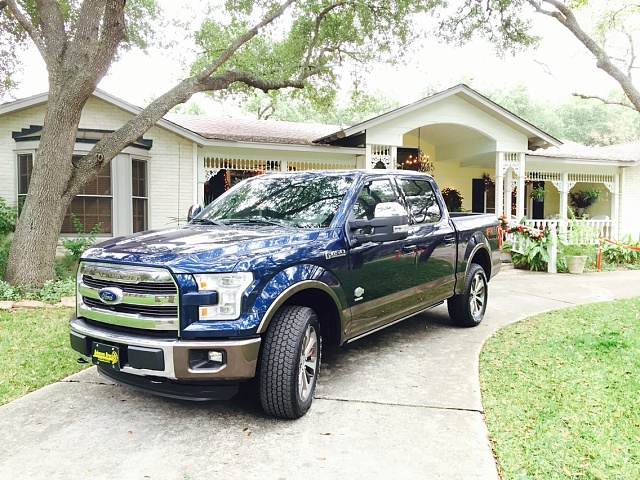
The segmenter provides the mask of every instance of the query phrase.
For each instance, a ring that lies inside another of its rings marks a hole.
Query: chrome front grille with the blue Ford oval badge
[[[168,270],[97,262],[78,268],[78,316],[120,327],[176,331],[178,287]]]

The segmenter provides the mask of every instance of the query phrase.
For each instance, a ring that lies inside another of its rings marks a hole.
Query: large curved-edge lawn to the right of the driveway
[[[640,297],[531,317],[480,356],[504,480],[640,478]]]

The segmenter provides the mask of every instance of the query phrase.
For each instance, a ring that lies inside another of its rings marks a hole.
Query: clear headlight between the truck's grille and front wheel
[[[242,294],[253,282],[251,272],[194,275],[199,291],[218,292],[217,305],[199,307],[200,320],[235,320],[240,316]]]

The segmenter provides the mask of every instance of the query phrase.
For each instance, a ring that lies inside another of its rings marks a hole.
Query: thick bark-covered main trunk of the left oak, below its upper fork
[[[60,227],[73,199],[65,191],[84,102],[78,104],[76,95],[54,96],[49,98],[29,192],[9,251],[5,279],[14,285],[41,286],[55,279]]]

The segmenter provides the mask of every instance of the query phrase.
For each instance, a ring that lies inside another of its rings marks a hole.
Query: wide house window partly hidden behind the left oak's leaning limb
[[[73,160],[81,157],[74,155]],[[71,207],[64,217],[61,233],[76,233],[71,214],[82,223],[85,232],[100,225],[98,233],[112,233],[113,193],[111,188],[111,164],[108,163],[82,192],[71,201]]]

